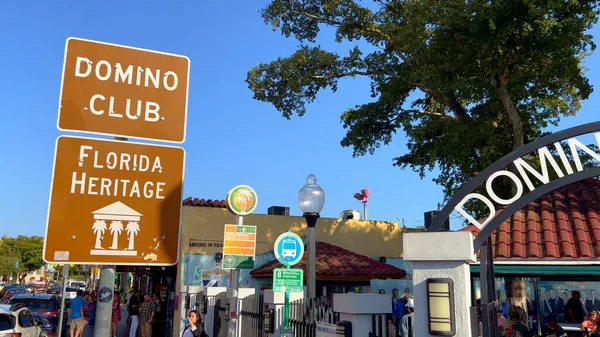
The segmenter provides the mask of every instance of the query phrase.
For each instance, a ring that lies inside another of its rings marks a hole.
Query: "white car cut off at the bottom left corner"
[[[36,321],[25,307],[12,309],[0,305],[0,336],[42,336],[42,322]]]

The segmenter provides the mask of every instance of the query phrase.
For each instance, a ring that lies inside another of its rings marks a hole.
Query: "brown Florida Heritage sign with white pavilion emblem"
[[[60,136],[44,260],[177,263],[184,161],[179,147]]]

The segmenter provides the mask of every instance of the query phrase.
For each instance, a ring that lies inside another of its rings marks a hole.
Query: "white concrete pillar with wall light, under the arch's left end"
[[[427,279],[454,281],[455,336],[471,336],[471,274],[476,261],[470,232],[422,232],[404,234],[404,260],[413,267],[416,336],[428,337]]]

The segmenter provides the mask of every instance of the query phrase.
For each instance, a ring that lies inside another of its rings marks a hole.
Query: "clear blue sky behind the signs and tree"
[[[367,81],[348,80],[336,94],[323,92],[305,117],[291,121],[252,99],[246,72],[291,54],[298,44],[264,25],[259,10],[267,3],[0,2],[0,234],[44,233],[54,143],[60,135],[56,118],[64,43],[70,36],[191,59],[185,196],[224,198],[233,186],[248,184],[259,196],[257,212],[280,205],[298,215],[298,190],[314,173],[326,193],[323,216],[362,210],[352,195],[369,188],[370,219],[401,217],[407,226],[422,222],[423,212],[441,201],[441,189],[431,182],[432,175],[421,180],[391,165],[406,151],[401,133],[374,156],[352,158],[352,150],[339,144],[344,136],[339,114],[370,100]],[[587,62],[596,87],[598,62],[597,54]],[[598,95],[560,128],[597,120]]]

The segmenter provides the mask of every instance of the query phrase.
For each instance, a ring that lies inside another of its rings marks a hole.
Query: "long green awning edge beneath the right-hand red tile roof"
[[[599,265],[496,265],[494,267],[496,276],[519,275],[519,276],[550,276],[565,279],[568,277],[598,277],[600,276]],[[479,274],[479,265],[471,265],[471,273]]]

